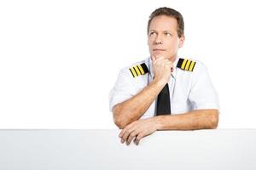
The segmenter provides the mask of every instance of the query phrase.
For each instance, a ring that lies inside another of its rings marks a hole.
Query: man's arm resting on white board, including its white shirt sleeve
[[[196,108],[194,111],[180,115],[154,116],[131,122],[119,133],[121,142],[126,141],[126,144],[130,144],[132,139],[135,139],[138,144],[140,139],[156,130],[195,130],[218,127],[217,94],[212,88],[206,68],[201,66],[196,73],[199,75],[195,77],[197,80],[193,82],[193,90],[189,95],[189,100]]]

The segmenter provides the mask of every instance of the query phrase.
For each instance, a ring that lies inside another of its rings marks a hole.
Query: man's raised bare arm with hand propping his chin
[[[119,127],[124,128],[131,122],[137,121],[148,110],[154,99],[169,81],[172,70],[172,62],[164,57],[153,58],[154,81],[148,87],[127,99],[124,102],[113,106],[113,122]]]

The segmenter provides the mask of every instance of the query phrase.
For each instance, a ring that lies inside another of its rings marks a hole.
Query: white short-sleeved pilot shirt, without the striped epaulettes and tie
[[[178,59],[177,57],[173,63],[174,70],[168,82],[172,115],[199,109],[219,110],[218,94],[213,88],[207,67],[198,60],[189,59],[196,62],[195,68],[193,71],[185,71],[177,68]],[[133,77],[129,69],[143,63],[147,65],[148,73]],[[149,82],[152,82],[153,77],[154,71],[150,57],[119,71],[118,79],[109,94],[109,110],[112,111],[114,105],[138,94],[148,86]],[[155,105],[156,99],[141,119],[155,116]]]

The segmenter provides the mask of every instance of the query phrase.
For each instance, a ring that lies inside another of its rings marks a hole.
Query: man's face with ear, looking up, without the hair
[[[178,48],[183,47],[184,37],[177,36],[177,20],[160,15],[151,20],[148,31],[149,53],[156,59],[176,59]]]

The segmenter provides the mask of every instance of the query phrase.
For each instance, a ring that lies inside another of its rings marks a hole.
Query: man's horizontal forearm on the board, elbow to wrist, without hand
[[[157,130],[195,130],[218,127],[218,110],[195,110],[181,115],[153,118]]]

